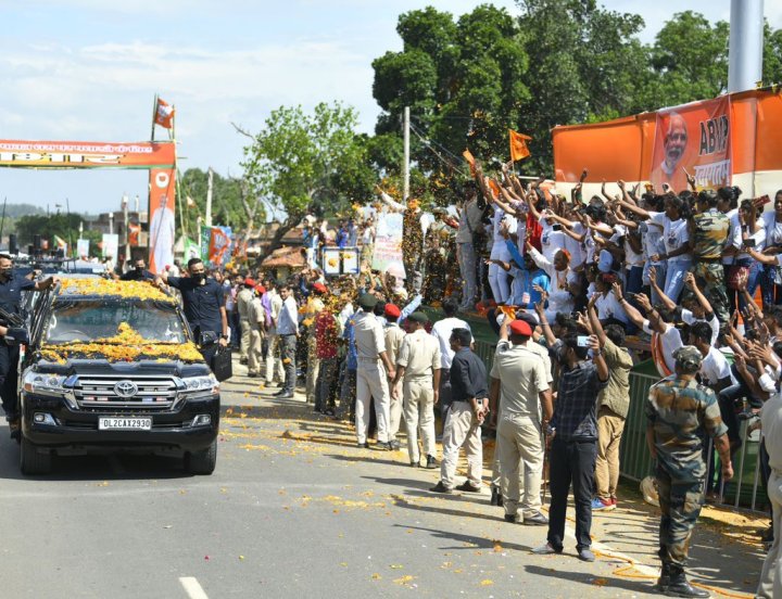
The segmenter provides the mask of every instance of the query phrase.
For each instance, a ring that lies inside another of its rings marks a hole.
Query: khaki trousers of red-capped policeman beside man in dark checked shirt
[[[504,413],[497,424],[503,506],[506,514],[533,515],[541,509],[543,443],[537,419]]]

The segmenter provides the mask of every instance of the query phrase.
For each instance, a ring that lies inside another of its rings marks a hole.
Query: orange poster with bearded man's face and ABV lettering
[[[693,102],[657,113],[649,178],[658,190],[688,189],[686,174],[695,187],[717,189],[730,184],[732,175],[730,97]]]

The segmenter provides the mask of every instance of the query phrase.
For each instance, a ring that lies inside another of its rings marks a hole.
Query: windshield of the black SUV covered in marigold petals
[[[171,304],[149,300],[58,300],[45,343],[58,345],[92,340],[111,341],[122,323],[150,343],[185,343],[182,321]]]

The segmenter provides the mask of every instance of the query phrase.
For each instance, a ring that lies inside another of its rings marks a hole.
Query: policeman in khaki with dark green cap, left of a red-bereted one
[[[356,370],[355,425],[358,447],[369,447],[369,400],[375,398],[378,422],[378,448],[392,449],[389,443],[389,407],[391,395],[388,379],[395,374],[394,366],[386,352],[386,336],[380,320],[373,314],[377,298],[365,293],[358,298],[361,310],[353,317],[353,336],[358,355]],[[386,367],[383,370],[382,366]]]

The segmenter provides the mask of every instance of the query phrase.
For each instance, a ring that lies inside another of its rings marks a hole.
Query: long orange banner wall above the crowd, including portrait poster
[[[586,183],[652,180],[659,190],[665,180],[681,191],[686,188],[684,166],[699,187],[730,181],[745,194],[773,194],[782,187],[781,129],[778,89],[733,93],[606,123],[555,127],[556,180],[576,183],[588,168]]]

